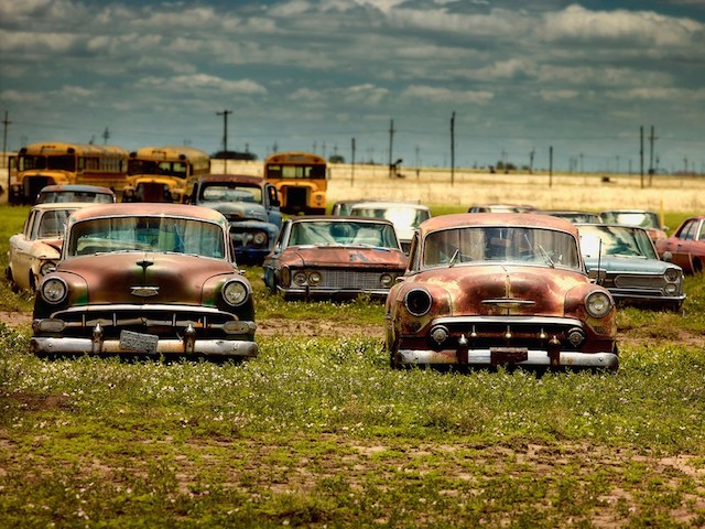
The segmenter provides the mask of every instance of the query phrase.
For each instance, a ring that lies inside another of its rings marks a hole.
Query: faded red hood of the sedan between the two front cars
[[[400,250],[361,246],[299,246],[284,252],[292,266],[325,268],[390,268],[405,269],[406,256]]]

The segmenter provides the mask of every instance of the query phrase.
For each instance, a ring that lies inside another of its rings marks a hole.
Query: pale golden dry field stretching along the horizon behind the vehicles
[[[223,172],[223,161],[213,161],[213,172]],[[328,203],[346,198],[389,198],[458,206],[471,204],[531,204],[543,209],[644,208],[686,214],[705,212],[704,176],[658,175],[649,186],[649,176],[628,174],[490,174],[402,168],[403,179],[390,179],[384,165],[330,165]],[[228,173],[262,175],[261,162],[228,161]],[[607,176],[609,182],[603,182]],[[550,185],[551,184],[551,185]]]

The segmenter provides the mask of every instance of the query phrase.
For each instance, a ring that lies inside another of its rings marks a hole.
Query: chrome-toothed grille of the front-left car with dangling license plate
[[[57,312],[53,317],[65,322],[66,328],[62,333],[64,336],[90,337],[94,327],[100,324],[106,338],[117,338],[121,331],[177,337],[189,324],[195,328],[197,337],[226,336],[224,324],[237,320],[235,315],[216,309],[175,309],[163,305],[74,307]]]

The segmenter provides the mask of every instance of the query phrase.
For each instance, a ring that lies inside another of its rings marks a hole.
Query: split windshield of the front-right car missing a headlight
[[[581,269],[575,238],[565,231],[517,226],[471,226],[426,235],[424,267],[516,262]]]

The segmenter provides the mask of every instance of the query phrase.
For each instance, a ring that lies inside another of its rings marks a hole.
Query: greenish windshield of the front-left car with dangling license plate
[[[177,252],[224,258],[220,226],[188,218],[112,217],[76,223],[67,256],[111,251]]]

